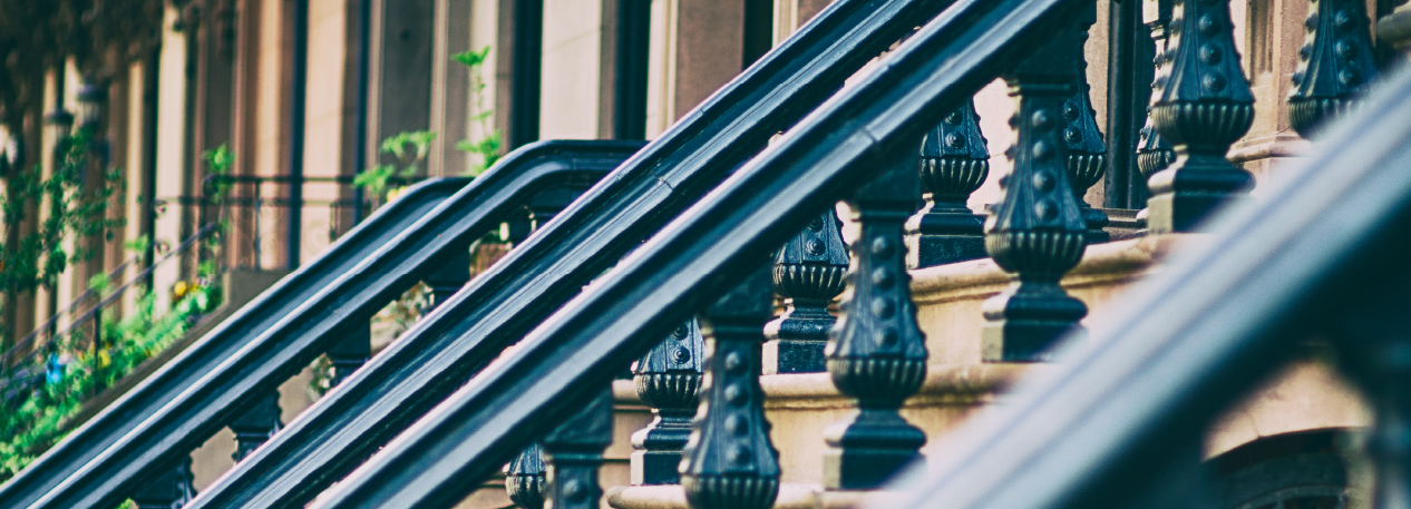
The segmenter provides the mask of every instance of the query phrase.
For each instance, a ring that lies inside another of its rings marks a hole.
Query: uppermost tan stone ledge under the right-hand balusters
[[[1163,234],[1089,245],[1082,262],[1062,279],[1065,288],[1105,285],[1140,278],[1178,245],[1199,234]],[[996,293],[1010,282],[993,259],[927,266],[912,271],[912,298],[917,306]]]

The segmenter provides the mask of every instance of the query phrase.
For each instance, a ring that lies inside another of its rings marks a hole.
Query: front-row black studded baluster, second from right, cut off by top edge
[[[1149,180],[1154,233],[1191,231],[1254,183],[1253,175],[1225,159],[1230,144],[1254,123],[1254,96],[1235,51],[1229,0],[1175,0],[1168,45],[1151,118],[1177,155]]]

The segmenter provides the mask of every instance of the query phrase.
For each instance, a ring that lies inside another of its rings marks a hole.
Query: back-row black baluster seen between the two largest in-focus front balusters
[[[926,209],[906,223],[907,266],[985,258],[985,217],[965,206],[989,175],[989,149],[975,100],[945,116],[921,140]]]

